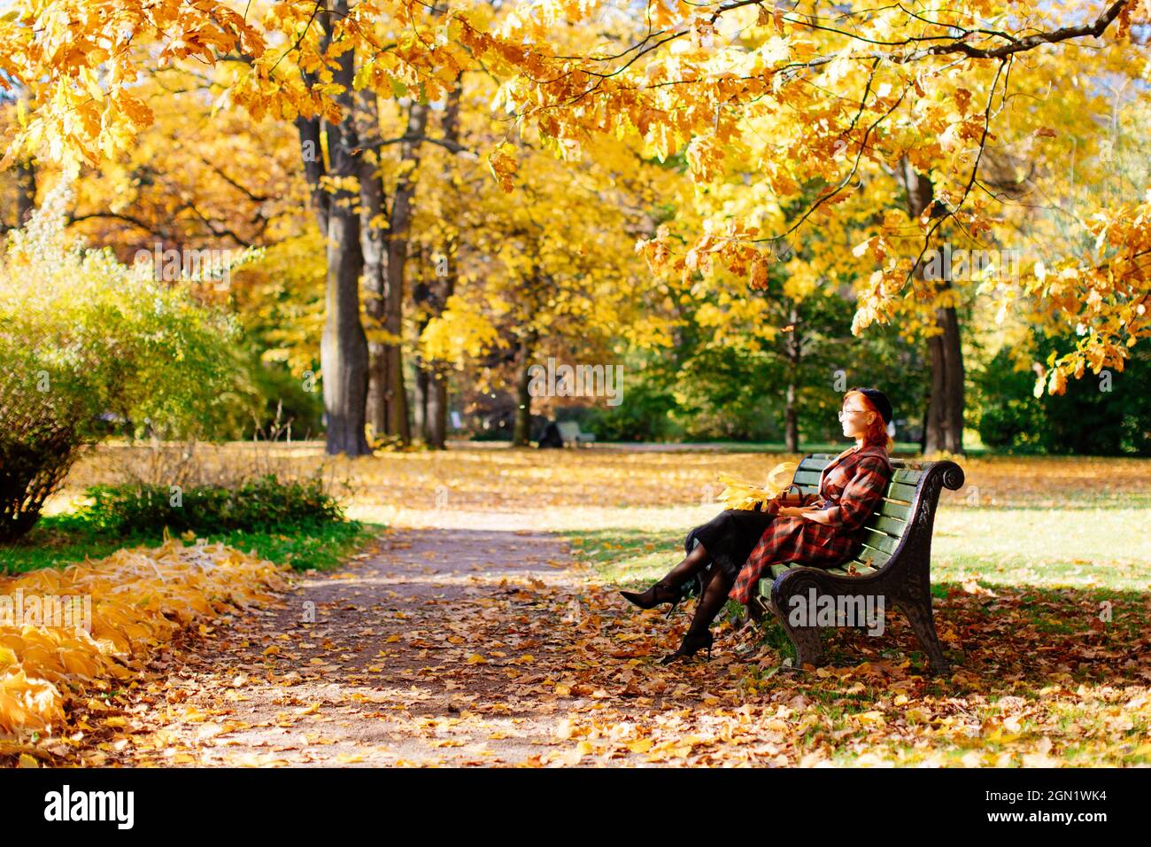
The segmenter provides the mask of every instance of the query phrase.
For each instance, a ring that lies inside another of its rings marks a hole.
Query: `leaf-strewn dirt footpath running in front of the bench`
[[[671,622],[634,610],[613,587],[589,585],[561,538],[517,529],[526,516],[478,528],[491,517],[390,531],[349,565],[299,577],[279,607],[205,632],[170,657],[162,699],[123,753],[138,764],[256,766],[732,753],[704,754],[712,733],[692,732],[701,706],[744,702],[715,688],[744,671],[729,668],[730,645],[726,660],[717,651],[658,666],[689,607]]]

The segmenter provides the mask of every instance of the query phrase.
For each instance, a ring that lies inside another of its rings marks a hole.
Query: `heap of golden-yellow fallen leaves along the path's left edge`
[[[0,577],[0,597],[12,598],[5,607],[16,610],[0,615],[0,754],[66,729],[71,706],[138,676],[178,630],[285,589],[285,568],[223,544],[170,539]],[[61,621],[33,618],[29,598],[53,597],[87,598],[90,628],[37,625]]]

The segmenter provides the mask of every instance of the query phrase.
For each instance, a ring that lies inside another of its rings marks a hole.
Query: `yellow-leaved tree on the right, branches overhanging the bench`
[[[892,320],[910,305],[935,316],[928,440],[958,449],[963,370],[955,293],[946,280],[924,279],[924,255],[938,245],[945,224],[975,239],[992,227],[994,197],[980,190],[980,166],[997,119],[1006,120],[1003,104],[1016,81],[1046,78],[1051,45],[1064,50],[1065,67],[1077,66],[1085,59],[1081,45],[1105,36],[1110,43],[1091,59],[1099,73],[1145,59],[1131,27],[1145,22],[1146,8],[1134,0],[1051,3],[1019,16],[990,0],[930,14],[917,6],[845,3],[824,14],[816,3],[651,2],[641,21],[618,16],[618,30],[573,56],[552,53],[548,44],[557,28],[580,25],[589,10],[533,3],[495,33],[532,45],[500,105],[555,137],[557,154],[596,134],[634,133],[661,156],[686,149],[701,184],[722,180],[730,160],[753,162],[757,179],[748,194],[768,194],[775,205],[810,180],[823,181],[795,222],[740,211],[752,204],[737,204],[734,213],[724,205],[686,249],[653,245],[653,257],[685,274],[711,257],[708,273],[724,266],[754,286],[788,240],[839,219],[836,207],[877,176],[881,183],[884,175],[894,177],[906,213],[887,217],[856,255],[864,262],[869,256],[875,270],[861,286],[854,328]],[[628,32],[626,23],[639,25]],[[1042,129],[1022,108],[1012,118]],[[1138,225],[1145,211],[1145,204],[1099,210],[1093,226],[1112,244],[1111,262],[1092,269],[1067,257],[1068,278],[1087,275],[1108,294],[1087,296],[1093,331],[1053,363],[1052,390],[1061,390],[1068,373],[1082,373],[1084,363],[1120,366],[1125,347],[1148,334],[1146,244]],[[1052,311],[1081,317],[1082,297],[1050,282],[1029,274],[1019,288]]]

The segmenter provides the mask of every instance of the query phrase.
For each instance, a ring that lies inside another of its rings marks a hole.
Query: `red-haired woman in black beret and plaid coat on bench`
[[[666,576],[642,593],[619,592],[640,608],[661,603],[671,603],[674,608],[683,587],[701,574],[703,590],[691,627],[679,649],[661,664],[693,656],[704,646],[710,658],[711,620],[729,598],[747,605],[772,565],[798,561],[833,567],[857,546],[863,524],[878,507],[891,479],[891,402],[878,388],[851,388],[844,395],[839,419],[844,434],[854,438],[855,446],[824,469],[817,502],[782,506],[772,513],[724,509],[688,534],[687,546],[694,544],[694,549]],[[712,567],[707,576],[701,572],[709,564]]]

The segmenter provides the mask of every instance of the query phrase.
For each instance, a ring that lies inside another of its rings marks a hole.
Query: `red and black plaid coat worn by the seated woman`
[[[840,453],[820,475],[822,507],[831,512],[831,523],[776,517],[747,557],[727,596],[746,605],[772,565],[794,561],[834,567],[843,562],[855,550],[863,524],[883,500],[891,471],[887,453],[878,445]]]

